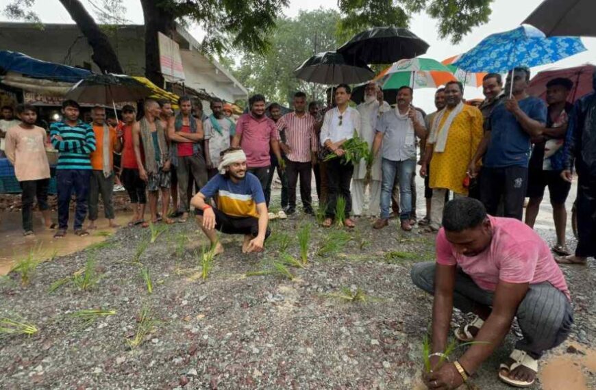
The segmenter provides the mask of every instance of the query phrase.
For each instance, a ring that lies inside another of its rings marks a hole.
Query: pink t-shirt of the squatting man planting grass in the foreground
[[[513,218],[491,217],[491,246],[480,255],[467,257],[451,246],[445,230],[436,237],[436,262],[459,265],[482,289],[495,291],[499,280],[507,283],[549,282],[567,298],[569,289],[547,243],[529,226]]]

